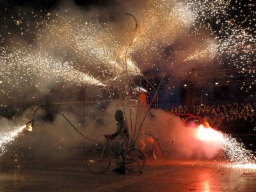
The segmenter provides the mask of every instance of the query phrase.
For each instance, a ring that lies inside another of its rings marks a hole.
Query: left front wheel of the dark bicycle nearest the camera
[[[92,150],[87,156],[86,166],[92,173],[104,173],[110,166],[110,156],[102,149]]]

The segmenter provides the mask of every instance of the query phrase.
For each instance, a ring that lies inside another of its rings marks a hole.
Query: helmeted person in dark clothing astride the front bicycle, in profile
[[[113,171],[125,174],[125,157],[124,157],[124,150],[129,143],[129,130],[127,126],[127,122],[124,120],[124,113],[121,110],[116,110],[115,112],[115,119],[117,121],[116,124],[116,132],[110,135],[106,135],[106,138],[109,140],[114,140],[116,137],[120,136],[120,140],[116,143],[116,165]]]

